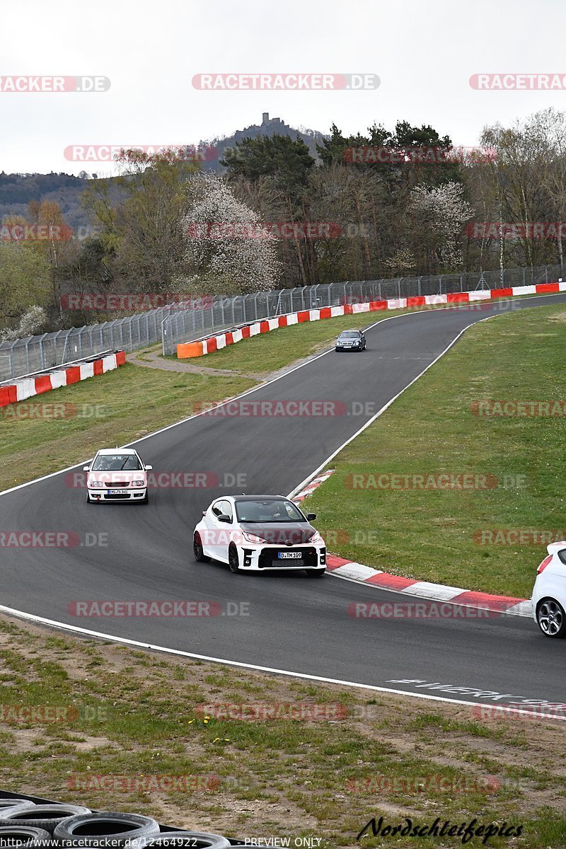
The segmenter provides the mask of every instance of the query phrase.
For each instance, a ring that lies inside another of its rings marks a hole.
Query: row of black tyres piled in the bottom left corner
[[[222,835],[172,830],[137,813],[0,797],[0,849],[240,849],[244,845]],[[255,849],[266,847],[255,845]]]

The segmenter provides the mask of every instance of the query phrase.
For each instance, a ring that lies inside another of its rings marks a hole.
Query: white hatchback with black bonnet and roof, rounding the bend
[[[305,570],[310,577],[326,571],[326,546],[289,498],[237,495],[216,498],[194,529],[194,559],[227,563],[233,573]]]

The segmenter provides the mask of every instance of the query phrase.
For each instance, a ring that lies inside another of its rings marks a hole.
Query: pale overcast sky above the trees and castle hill
[[[0,92],[0,171],[109,174],[64,158],[69,145],[196,143],[261,123],[365,132],[374,121],[432,124],[474,145],[564,90],[478,91],[476,73],[566,75],[560,0],[20,0],[3,3],[0,76],[109,77],[100,93]],[[377,89],[203,91],[200,73],[376,74]]]

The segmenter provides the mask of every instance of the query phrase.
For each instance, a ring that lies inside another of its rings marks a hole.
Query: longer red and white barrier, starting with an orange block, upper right
[[[243,339],[249,339],[261,333],[269,333],[279,327],[319,321],[322,318],[352,315],[357,312],[378,312],[379,310],[403,310],[419,306],[437,306],[439,304],[468,304],[474,301],[496,301],[498,298],[513,298],[518,295],[546,295],[552,292],[566,292],[566,283],[542,283],[535,286],[509,286],[507,289],[490,289],[477,292],[451,292],[448,295],[415,295],[412,298],[389,298],[387,301],[366,301],[361,304],[343,306],[322,306],[317,310],[289,312],[276,318],[266,318],[254,324],[246,324],[237,330],[208,336],[198,342],[184,342],[177,345],[177,357],[202,357],[213,351],[220,351],[227,345],[233,345]]]

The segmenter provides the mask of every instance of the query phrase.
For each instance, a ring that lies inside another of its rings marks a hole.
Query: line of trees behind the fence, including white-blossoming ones
[[[317,152],[299,137],[244,138],[220,177],[182,149],[122,151],[118,177],[82,181],[87,238],[57,202],[31,200],[2,225],[4,337],[116,318],[69,312],[69,293],[181,298],[563,265],[563,112],[485,127],[474,149],[407,121],[356,136],[333,125]]]

